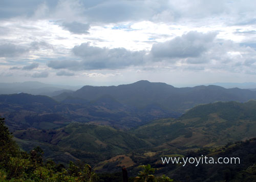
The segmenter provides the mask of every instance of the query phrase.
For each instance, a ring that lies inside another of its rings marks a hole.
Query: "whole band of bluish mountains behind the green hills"
[[[177,118],[198,104],[250,99],[256,99],[256,92],[248,89],[215,85],[176,88],[141,80],[118,86],[83,86],[52,98],[0,95],[0,114],[13,129],[49,129],[74,121],[131,128],[155,119]]]

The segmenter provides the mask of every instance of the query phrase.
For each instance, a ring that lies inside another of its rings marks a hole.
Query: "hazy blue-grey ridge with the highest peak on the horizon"
[[[145,80],[118,86],[83,86],[73,93],[65,93],[53,98],[57,101],[63,101],[67,97],[92,101],[104,95],[111,96],[121,104],[139,109],[157,104],[162,109],[180,113],[202,103],[246,102],[256,99],[256,92],[248,89],[227,89],[216,85],[176,88],[165,83],[152,83]]]

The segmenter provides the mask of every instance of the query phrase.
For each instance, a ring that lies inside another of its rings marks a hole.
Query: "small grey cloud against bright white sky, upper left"
[[[89,24],[82,24],[77,21],[63,22],[62,27],[75,34],[89,34],[88,30],[90,29]]]

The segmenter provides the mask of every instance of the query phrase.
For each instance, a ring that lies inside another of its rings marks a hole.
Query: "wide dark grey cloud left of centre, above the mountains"
[[[144,51],[129,51],[124,48],[98,48],[90,45],[90,42],[76,45],[72,49],[75,56],[81,61],[49,61],[48,66],[53,69],[69,70],[102,70],[123,69],[132,65],[144,63]]]

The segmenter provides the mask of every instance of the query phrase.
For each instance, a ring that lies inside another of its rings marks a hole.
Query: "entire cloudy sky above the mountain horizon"
[[[256,82],[256,1],[1,0],[0,82]]]

